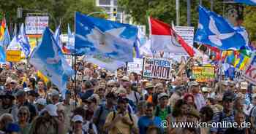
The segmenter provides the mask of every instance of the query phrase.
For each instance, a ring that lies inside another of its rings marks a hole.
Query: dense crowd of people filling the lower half
[[[185,76],[146,79],[80,62],[59,89],[33,67],[0,70],[0,134],[255,134],[256,87],[198,83]],[[76,83],[75,83],[76,82]],[[165,122],[165,123],[163,123]],[[166,123],[167,122],[167,123]],[[173,122],[249,122],[249,127],[173,126]]]

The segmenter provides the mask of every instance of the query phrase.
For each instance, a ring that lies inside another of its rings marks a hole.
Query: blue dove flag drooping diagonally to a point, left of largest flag
[[[66,89],[69,76],[74,74],[48,28],[45,28],[42,42],[31,53],[29,63],[56,84],[60,91]]]

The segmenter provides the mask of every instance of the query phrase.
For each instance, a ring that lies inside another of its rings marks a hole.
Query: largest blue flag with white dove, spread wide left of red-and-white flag
[[[123,62],[133,60],[138,28],[97,17],[75,14],[75,51]]]

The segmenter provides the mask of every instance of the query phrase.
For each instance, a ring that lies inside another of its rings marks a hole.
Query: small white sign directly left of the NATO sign
[[[134,58],[133,62],[127,63],[127,74],[135,72],[136,74],[141,74],[143,70],[143,59]]]

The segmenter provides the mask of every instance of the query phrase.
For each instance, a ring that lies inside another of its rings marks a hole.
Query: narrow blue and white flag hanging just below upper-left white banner
[[[21,51],[24,52],[24,54],[26,55],[26,58],[28,58],[30,54],[30,44],[29,44],[29,39],[26,36],[23,23],[20,26],[20,31],[18,33],[18,36],[16,36],[16,38],[17,38],[18,44],[21,47]]]

